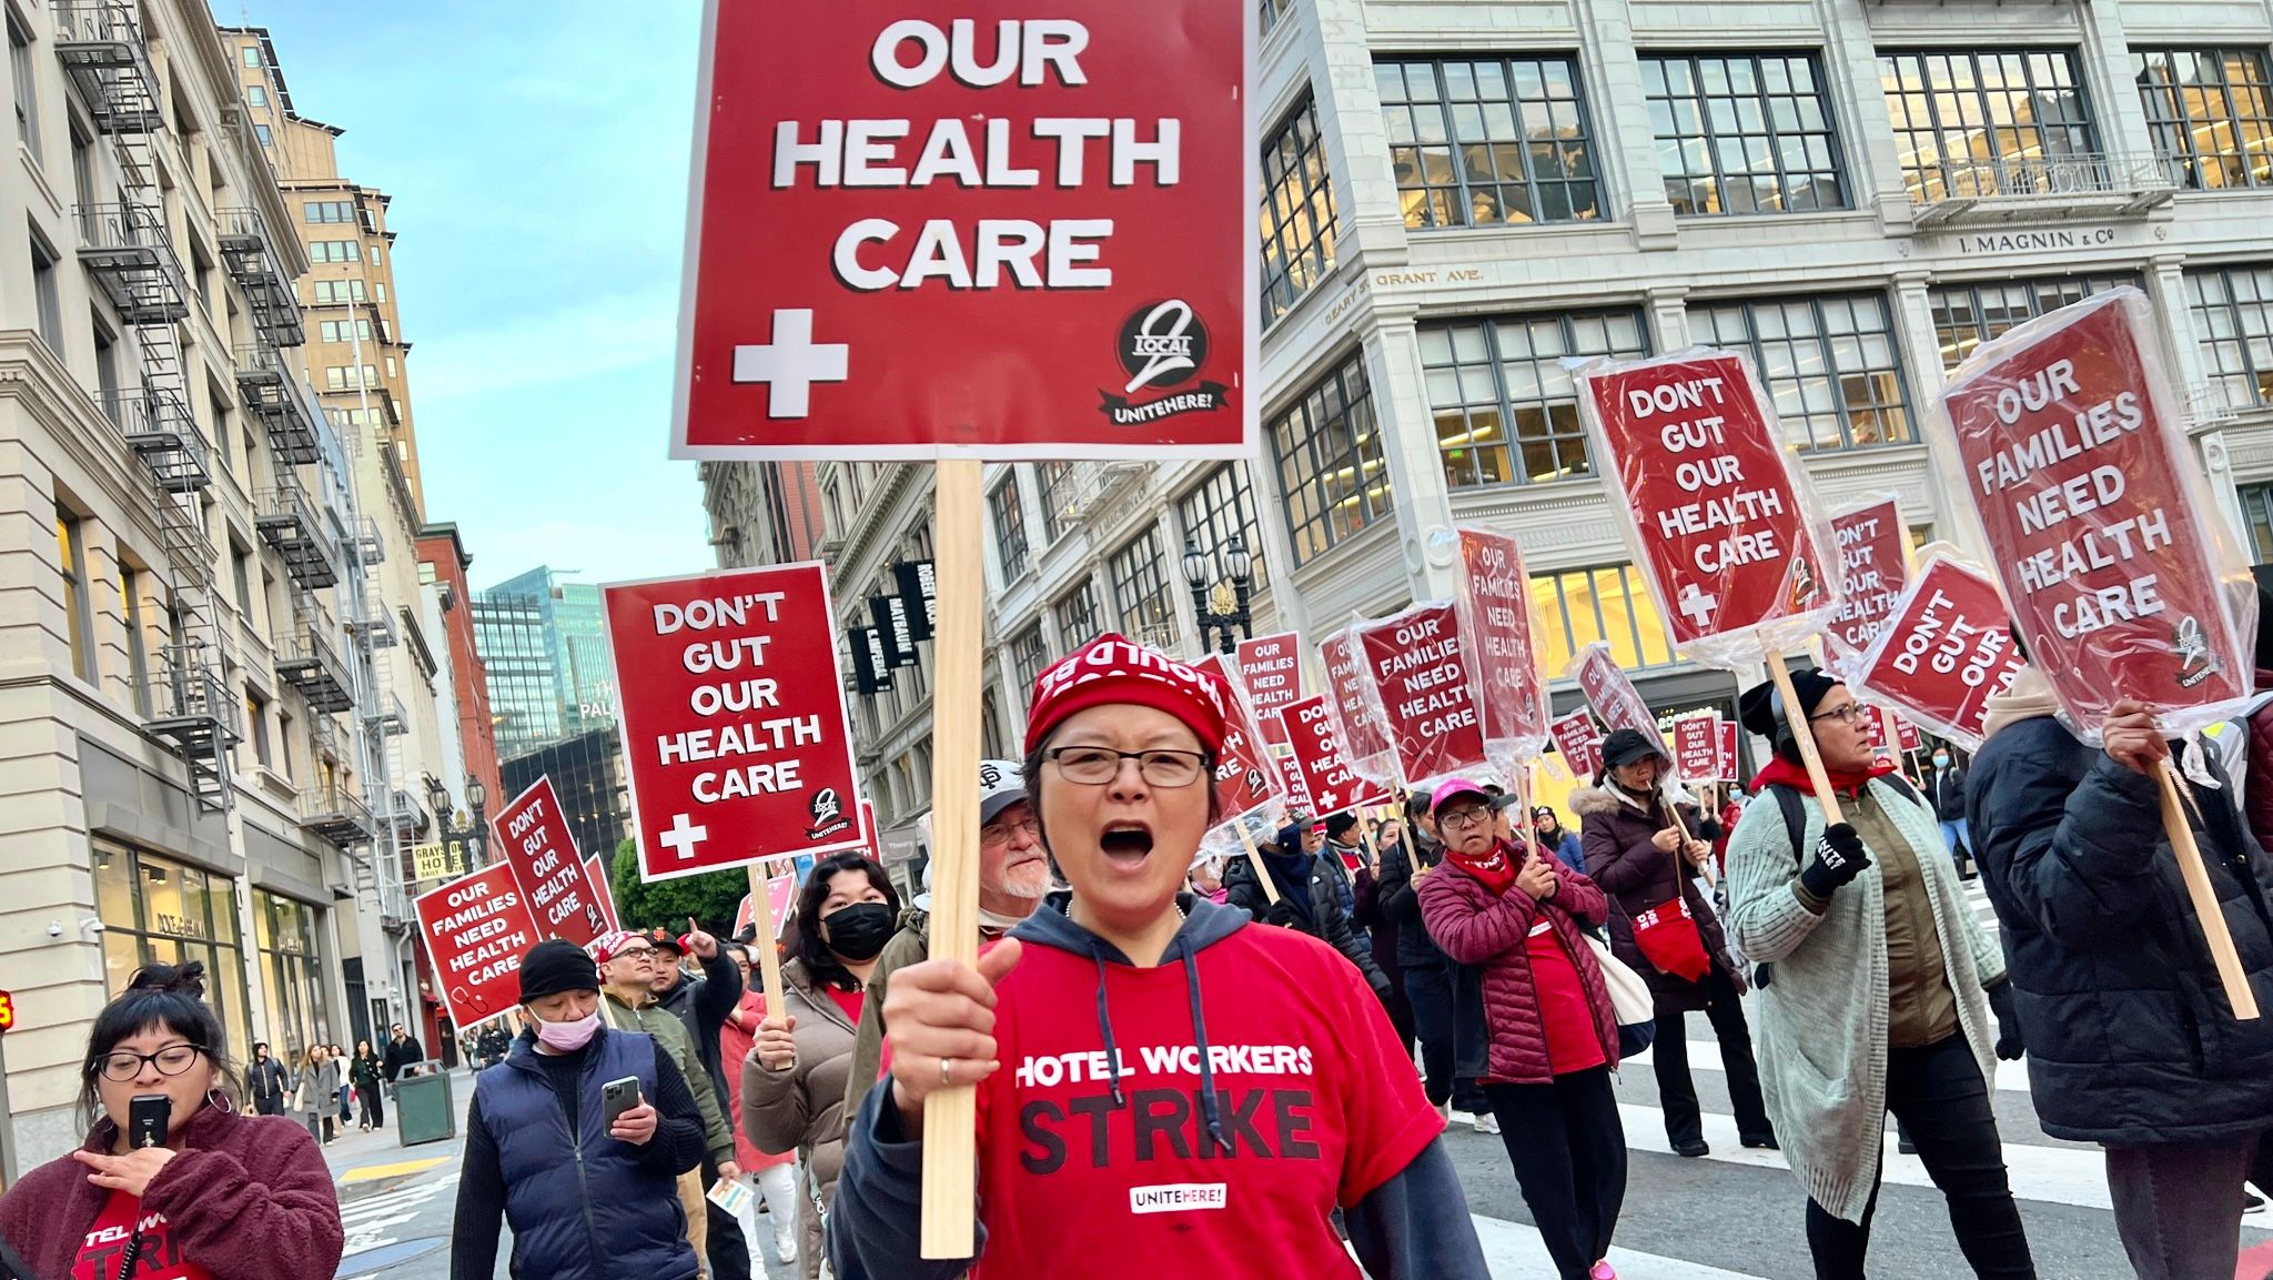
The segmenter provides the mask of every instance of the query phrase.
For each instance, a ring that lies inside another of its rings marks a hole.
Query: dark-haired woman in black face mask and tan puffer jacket
[[[814,864],[798,891],[798,948],[782,964],[784,1009],[757,1023],[741,1064],[741,1128],[768,1155],[798,1153],[809,1187],[798,1203],[798,1266],[821,1275],[821,1216],[843,1164],[846,1080],[868,973],[900,930],[900,896],[861,853]]]

